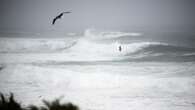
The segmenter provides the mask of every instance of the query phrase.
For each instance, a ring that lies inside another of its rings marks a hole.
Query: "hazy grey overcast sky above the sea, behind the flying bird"
[[[71,10],[52,26],[53,17]],[[0,31],[195,32],[195,0],[0,0]]]

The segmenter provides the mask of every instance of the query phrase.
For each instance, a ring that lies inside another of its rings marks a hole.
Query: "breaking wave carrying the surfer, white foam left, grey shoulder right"
[[[119,51],[119,46],[122,50]],[[117,61],[195,61],[195,48],[180,47],[162,42],[137,42],[130,44],[96,44],[80,41],[73,46],[80,56],[93,56]],[[87,54],[86,54],[87,53]],[[87,58],[86,57],[86,58]]]

